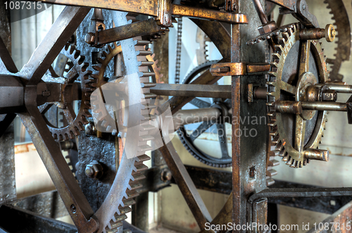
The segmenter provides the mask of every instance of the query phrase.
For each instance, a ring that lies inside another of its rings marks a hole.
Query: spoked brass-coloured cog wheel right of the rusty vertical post
[[[327,122],[326,111],[303,111],[296,115],[275,111],[275,102],[303,101],[306,87],[328,81],[326,58],[321,43],[300,41],[298,33],[299,28],[294,27],[283,32],[282,38],[278,39],[279,44],[275,46],[275,53],[272,54],[272,68],[267,82],[270,118],[268,125],[271,129],[272,144],[275,145],[275,151],[279,151],[282,160],[291,168],[302,168],[309,163],[306,152],[318,149]],[[308,48],[306,52],[303,52],[304,43]],[[304,63],[304,73],[297,68],[297,64],[300,64],[299,54],[301,61],[307,61]]]

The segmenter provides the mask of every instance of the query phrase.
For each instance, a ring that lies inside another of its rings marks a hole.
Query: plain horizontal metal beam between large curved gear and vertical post
[[[187,96],[231,99],[231,85],[156,84],[151,93],[158,96]]]

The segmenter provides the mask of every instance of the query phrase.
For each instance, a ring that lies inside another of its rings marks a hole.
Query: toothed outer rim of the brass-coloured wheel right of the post
[[[295,26],[293,30],[289,29],[287,32],[282,32],[282,39],[279,39],[279,44],[275,46],[275,53],[272,53],[272,63],[270,74],[270,82],[267,82],[269,87],[268,106],[270,111],[268,113],[270,122],[268,125],[271,128],[270,137],[272,137],[272,144],[275,146],[275,151],[279,151],[279,156],[286,162],[291,168],[302,168],[303,165],[307,165],[310,162],[307,158],[301,158],[295,153],[296,149],[289,143],[286,133],[284,132],[284,125],[282,122],[282,113],[275,113],[275,101],[280,99],[280,92],[277,83],[281,81],[282,71],[284,63],[291,47],[298,42],[299,29]],[[327,67],[325,63],[325,56],[323,55],[323,49],[321,42],[310,41],[310,51],[313,49],[313,56],[318,64],[318,72],[320,74],[319,80],[324,83],[328,81]],[[272,92],[271,92],[272,91]],[[315,130],[310,136],[308,143],[303,147],[304,149],[318,149],[318,145],[321,143],[323,137],[323,130],[325,130],[325,123],[327,122],[327,111],[319,111],[318,120],[315,125]]]

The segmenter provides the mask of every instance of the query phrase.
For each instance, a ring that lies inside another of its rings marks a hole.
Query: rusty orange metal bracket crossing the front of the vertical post
[[[210,73],[213,76],[242,76],[269,70],[270,64],[268,63],[215,63],[211,65]]]

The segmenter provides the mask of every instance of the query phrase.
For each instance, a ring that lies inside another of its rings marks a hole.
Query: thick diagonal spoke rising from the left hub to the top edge
[[[51,26],[46,37],[32,54],[30,61],[20,70],[20,77],[28,84],[37,84],[42,80],[46,70],[54,62],[63,46],[89,13],[90,8],[66,6],[58,19]]]

